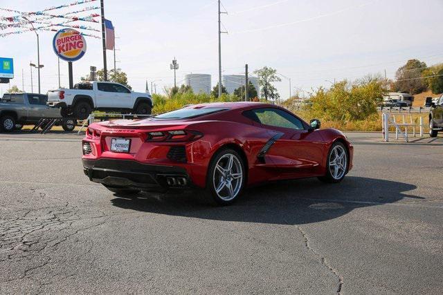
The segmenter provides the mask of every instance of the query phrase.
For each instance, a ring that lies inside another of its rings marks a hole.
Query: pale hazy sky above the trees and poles
[[[39,11],[70,3],[63,1],[5,1],[0,7]],[[96,6],[99,1],[78,7]],[[394,77],[407,59],[427,64],[443,61],[441,0],[224,0],[228,15],[222,22],[224,74],[239,74],[271,66],[291,77],[295,88],[309,91],[326,80],[356,79],[368,73]],[[72,8],[71,8],[72,9]],[[58,10],[62,14],[66,10]],[[83,13],[82,15],[86,15]],[[11,15],[1,12],[2,16]],[[13,15],[13,14],[12,14]],[[79,14],[80,15],[80,14]],[[217,83],[217,1],[116,1],[105,0],[105,16],[116,27],[117,64],[136,91],[145,81],[157,81],[157,91],[173,84],[169,68],[175,56],[180,65],[177,81],[188,73],[213,75]],[[91,25],[100,28],[98,25]],[[54,32],[40,32],[42,90],[57,88],[57,57],[51,41]],[[97,33],[98,35],[98,33]],[[29,61],[37,62],[33,32],[0,38],[0,56],[15,59],[15,79],[30,91]],[[89,66],[102,68],[101,40],[87,38],[87,53],[73,64],[74,79],[89,73]],[[108,66],[113,55],[108,53]],[[67,63],[62,62],[62,86],[68,85]],[[37,88],[34,73],[34,88]],[[5,91],[7,84],[0,84]],[[277,84],[282,98],[289,96],[287,79]]]

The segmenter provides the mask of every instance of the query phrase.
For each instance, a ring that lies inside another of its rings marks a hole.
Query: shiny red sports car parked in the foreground
[[[272,180],[340,182],[353,154],[341,131],[255,102],[198,104],[143,120],[94,123],[82,146],[84,173],[120,196],[194,188],[218,204]]]

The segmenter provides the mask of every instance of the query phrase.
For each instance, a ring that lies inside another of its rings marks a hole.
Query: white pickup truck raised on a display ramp
[[[152,97],[137,93],[114,82],[75,84],[74,89],[60,88],[48,91],[48,106],[62,108],[64,116],[84,120],[93,110],[120,111],[150,115]]]

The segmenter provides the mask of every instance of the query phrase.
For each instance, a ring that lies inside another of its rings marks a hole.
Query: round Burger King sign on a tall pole
[[[53,39],[55,54],[65,61],[76,61],[86,53],[86,40],[77,30],[59,30]]]

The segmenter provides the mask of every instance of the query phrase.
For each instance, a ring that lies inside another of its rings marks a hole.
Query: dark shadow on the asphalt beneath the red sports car
[[[124,209],[170,216],[300,225],[338,218],[359,207],[403,198],[424,199],[407,194],[416,188],[403,182],[350,176],[339,184],[324,184],[314,178],[266,184],[246,190],[242,198],[227,207],[210,206],[199,198],[198,191],[139,193],[111,202]]]

